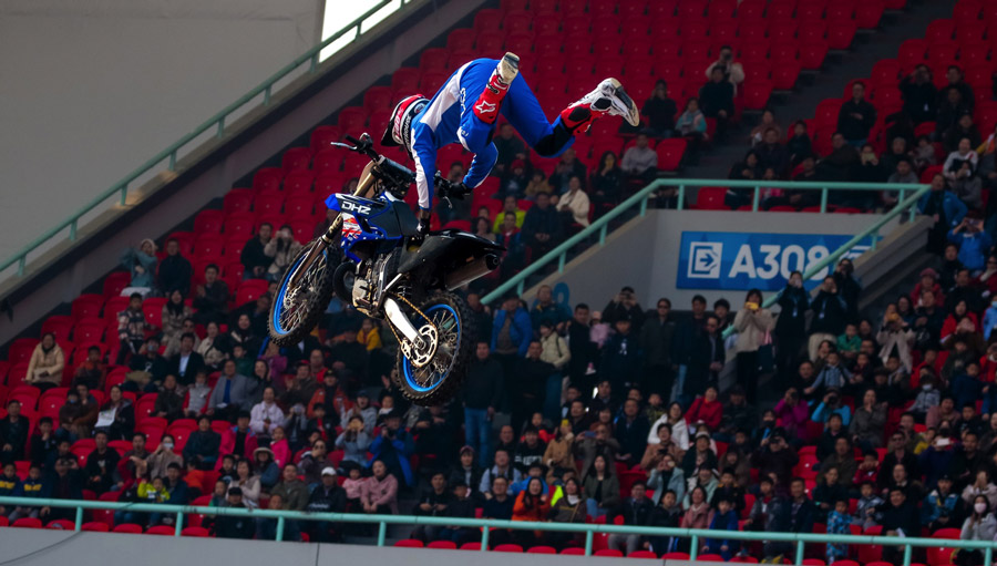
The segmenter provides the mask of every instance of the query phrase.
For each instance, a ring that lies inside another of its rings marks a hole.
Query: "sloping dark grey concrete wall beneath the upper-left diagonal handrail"
[[[297,79],[289,92],[274,95],[270,106],[228,125],[224,138],[212,136],[189,159],[178,163],[177,175],[157,176],[147,184],[147,192],[140,188],[134,204],[110,210],[100,222],[81,228],[78,245],[63,241],[42,257],[38,267],[29,264],[25,277],[0,280],[0,315],[4,317],[0,344],[115,269],[122,249],[142,238],[167,234],[223,196],[238,179],[435,40],[441,30],[469,18],[484,1],[408,2],[404,13],[389,18],[359,44],[328,59],[319,73]],[[0,194],[0,208],[2,198]]]

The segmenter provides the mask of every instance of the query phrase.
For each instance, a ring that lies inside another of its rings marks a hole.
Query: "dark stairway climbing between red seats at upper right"
[[[887,10],[875,30],[859,30],[849,50],[828,54],[820,72],[804,72],[795,89],[773,93],[769,107],[774,111],[783,131],[791,128],[796,120],[813,117],[821,101],[841,96],[853,79],[870,76],[876,62],[895,58],[901,43],[911,38],[923,38],[932,21],[950,18],[955,4],[956,0],[908,0],[903,10]],[[760,112],[747,113],[741,130],[734,132],[727,144],[706,153],[697,165],[687,166],[683,176],[727,178],[730,167],[751,148],[748,132],[760,115]]]

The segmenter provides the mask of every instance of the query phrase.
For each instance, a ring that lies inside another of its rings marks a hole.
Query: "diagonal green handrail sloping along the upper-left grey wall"
[[[405,3],[411,2],[412,0],[399,0],[399,1],[401,2],[399,10],[401,10],[401,7],[404,7]],[[95,198],[93,198],[85,205],[83,205],[83,207],[81,209],[73,213],[69,218],[56,224],[55,226],[53,226],[52,228],[47,230],[44,234],[42,234],[41,236],[39,236],[34,240],[32,240],[30,244],[28,244],[27,246],[21,248],[19,251],[14,253],[13,256],[7,258],[6,260],[3,260],[3,263],[0,263],[0,272],[3,272],[10,266],[18,264],[17,275],[18,275],[18,277],[22,277],[24,275],[24,268],[28,263],[28,255],[30,253],[34,251],[35,249],[38,249],[44,243],[54,238],[56,235],[59,235],[62,230],[64,230],[66,228],[69,228],[69,240],[75,241],[76,240],[76,230],[79,228],[80,218],[82,218],[84,215],[86,215],[88,213],[90,213],[91,210],[93,210],[94,208],[100,206],[102,203],[104,203],[105,200],[107,200],[109,198],[111,198],[112,196],[114,196],[119,193],[121,195],[119,203],[121,206],[124,206],[127,203],[129,185],[132,184],[133,182],[135,182],[135,179],[137,179],[142,175],[153,171],[154,168],[157,172],[162,171],[161,168],[156,168],[156,166],[162,164],[164,161],[167,162],[166,171],[171,171],[171,172],[176,171],[176,162],[177,162],[177,158],[179,157],[179,155],[178,155],[179,151],[185,145],[187,145],[188,143],[194,141],[199,135],[202,135],[205,132],[208,132],[213,128],[215,130],[217,137],[224,137],[225,136],[225,121],[235,111],[239,110],[247,103],[251,102],[254,99],[256,99],[260,94],[263,94],[263,101],[260,104],[263,106],[268,106],[270,104],[270,96],[273,94],[274,85],[277,83],[277,81],[286,78],[288,74],[294,72],[302,63],[306,63],[306,62],[309,62],[308,72],[315,73],[318,69],[319,54],[321,53],[321,51],[325,48],[327,48],[332,42],[337,41],[338,39],[342,38],[343,35],[346,35],[347,33],[349,33],[350,31],[353,31],[353,30],[356,30],[357,39],[359,39],[360,35],[362,35],[362,33],[363,33],[362,28],[361,28],[361,24],[363,23],[363,21],[367,20],[368,18],[370,18],[371,16],[373,16],[374,13],[377,13],[378,11],[380,11],[382,8],[391,4],[392,2],[393,2],[393,0],[381,0],[380,2],[374,4],[370,10],[364,12],[362,16],[360,16],[352,22],[348,23],[341,30],[337,31],[329,38],[322,40],[319,44],[309,49],[304,54],[299,55],[294,61],[291,61],[290,63],[288,63],[284,68],[281,68],[279,71],[277,71],[276,73],[270,75],[269,79],[265,80],[258,86],[250,90],[246,94],[241,95],[238,100],[236,100],[228,106],[225,106],[224,109],[222,109],[217,114],[215,114],[214,116],[208,119],[205,123],[195,127],[193,132],[184,135],[183,137],[181,137],[179,140],[174,142],[172,145],[169,145],[162,152],[157,153],[151,159],[148,159],[147,162],[140,165],[138,168],[136,168],[132,173],[127,174],[124,178],[122,178],[121,181],[119,181],[117,183],[112,185],[110,188],[107,188],[106,191],[104,191],[103,193],[97,195]]]

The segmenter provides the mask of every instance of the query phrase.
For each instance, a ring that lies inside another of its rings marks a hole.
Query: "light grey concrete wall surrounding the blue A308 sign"
[[[634,287],[644,308],[667,297],[674,309],[688,310],[693,295],[705,296],[709,305],[726,298],[737,307],[744,291],[676,287],[682,231],[854,235],[880,218],[867,214],[649,210],[644,218],[635,218],[610,234],[604,247],[586,250],[565,266],[564,274],[555,272],[542,282],[567,284],[571,303],[587,302],[593,309],[602,309],[624,285]],[[890,234],[895,226],[895,222],[887,224],[882,234]]]

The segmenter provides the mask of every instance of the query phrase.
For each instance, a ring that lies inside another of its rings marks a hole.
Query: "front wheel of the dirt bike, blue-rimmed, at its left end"
[[[332,254],[322,249],[319,256],[305,267],[305,260],[315,246],[322,246],[322,240],[317,239],[305,246],[291,261],[290,267],[280,279],[277,296],[270,306],[269,331],[270,340],[277,346],[292,346],[300,342],[311,329],[318,325],[322,313],[332,298]],[[295,274],[305,269],[297,282],[291,287]]]

